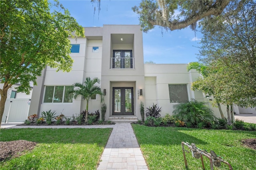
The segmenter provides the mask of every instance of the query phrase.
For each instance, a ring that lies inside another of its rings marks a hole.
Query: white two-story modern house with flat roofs
[[[56,111],[71,117],[86,108],[81,96],[66,97],[66,91],[86,77],[101,79],[106,92],[106,120],[132,117],[141,119],[140,101],[145,108],[153,103],[161,115],[172,114],[173,105],[196,99],[205,101],[191,83],[199,74],[188,72],[187,64],[144,64],[142,31],[139,25],[104,25],[85,29],[86,38],[70,38],[74,59],[72,71],[63,73],[46,67],[34,86],[29,115]],[[156,56],[157,57],[157,56]],[[89,101],[89,112],[100,110],[100,97]],[[41,116],[41,115],[40,115]],[[124,119],[122,119],[124,120]]]

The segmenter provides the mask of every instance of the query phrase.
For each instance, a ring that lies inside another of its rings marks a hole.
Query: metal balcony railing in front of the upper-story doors
[[[133,57],[110,58],[110,69],[134,69]]]

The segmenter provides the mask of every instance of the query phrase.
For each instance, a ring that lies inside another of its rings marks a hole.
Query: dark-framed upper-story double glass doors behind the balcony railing
[[[134,68],[134,58],[132,57],[132,50],[113,50],[113,57],[111,58],[111,68]]]

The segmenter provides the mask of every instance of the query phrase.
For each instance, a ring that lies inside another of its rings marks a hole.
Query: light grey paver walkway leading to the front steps
[[[130,123],[116,123],[97,170],[148,170]]]

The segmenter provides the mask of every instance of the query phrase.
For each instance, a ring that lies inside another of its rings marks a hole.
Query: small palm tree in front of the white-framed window
[[[94,95],[100,96],[100,101],[104,101],[104,94],[100,90],[100,87],[95,86],[95,83],[100,83],[100,79],[95,77],[91,79],[90,77],[86,77],[84,83],[74,83],[74,89],[68,91],[68,94],[73,93],[74,99],[78,95],[81,95],[86,100],[86,115],[85,115],[85,122],[88,120],[88,103],[91,97]]]

